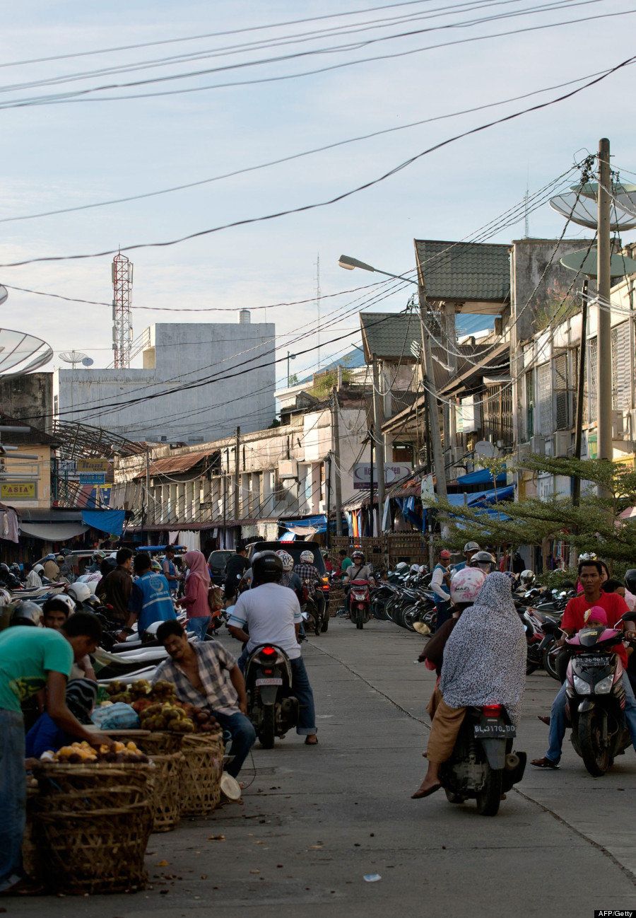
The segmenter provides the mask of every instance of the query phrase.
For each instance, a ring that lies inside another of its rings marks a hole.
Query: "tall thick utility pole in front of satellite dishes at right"
[[[609,208],[611,202],[609,140],[598,141],[597,191],[597,458],[613,458],[612,448],[612,339],[611,314],[608,308],[611,288],[611,236]],[[607,496],[598,488],[598,496]]]

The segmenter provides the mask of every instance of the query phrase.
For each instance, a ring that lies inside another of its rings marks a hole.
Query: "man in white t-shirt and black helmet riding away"
[[[314,694],[298,644],[303,617],[294,592],[281,587],[283,562],[275,552],[258,552],[251,559],[254,586],[241,593],[228,621],[229,633],[246,646],[239,657],[244,670],[248,657],[261,644],[285,651],[292,667],[292,691],[300,705],[296,733],[307,745],[318,743]],[[248,633],[249,632],[249,633]]]

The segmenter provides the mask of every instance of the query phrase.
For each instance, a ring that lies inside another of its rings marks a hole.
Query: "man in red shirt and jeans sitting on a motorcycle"
[[[578,576],[583,586],[583,593],[570,599],[561,620],[561,627],[567,637],[580,631],[585,625],[585,614],[592,606],[600,606],[606,611],[608,616],[608,628],[613,628],[619,618],[628,611],[625,600],[618,593],[604,593],[601,590],[603,575],[603,566],[599,561],[582,561],[578,565]],[[622,624],[619,625],[622,628]],[[564,638],[563,638],[564,640]],[[562,641],[563,643],[563,641]],[[627,666],[627,651],[625,644],[614,644],[612,650],[618,654],[623,666]],[[559,690],[556,698],[552,701],[552,711],[550,715],[550,737],[549,746],[545,756],[534,758],[530,762],[538,768],[558,768],[561,759],[561,747],[563,736],[565,735],[565,687],[566,683]],[[630,731],[631,742],[636,749],[636,700],[631,689],[630,680],[623,673],[623,687],[625,689],[625,722]]]

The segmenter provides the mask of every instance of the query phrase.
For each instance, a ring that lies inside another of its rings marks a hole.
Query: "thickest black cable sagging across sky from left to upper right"
[[[396,175],[397,173],[406,169],[408,166],[412,165],[414,162],[417,162],[422,157],[429,155],[431,152],[441,150],[443,147],[448,146],[449,144],[455,142],[456,140],[462,140],[465,137],[470,137],[484,130],[493,128],[496,125],[504,124],[508,121],[512,121],[516,118],[520,118],[523,115],[530,114],[530,112],[541,111],[541,109],[543,108],[547,108],[549,106],[556,105],[557,103],[563,102],[566,99],[572,98],[574,95],[578,95],[578,93],[581,93],[584,90],[590,88],[590,86],[601,83],[603,80],[607,79],[609,75],[611,75],[612,73],[617,73],[619,70],[621,70],[624,67],[629,66],[634,61],[636,61],[636,55],[632,55],[629,58],[626,58],[624,61],[620,62],[619,64],[616,64],[614,67],[609,68],[605,73],[602,73],[601,75],[597,76],[595,79],[588,81],[583,86],[578,86],[577,88],[570,90],[570,92],[568,93],[564,93],[563,95],[559,95],[555,98],[549,99],[546,102],[536,103],[533,106],[529,106],[528,108],[521,109],[518,112],[513,112],[510,115],[505,115],[502,118],[497,118],[494,121],[486,122],[485,124],[479,125],[476,128],[464,130],[462,131],[462,133],[456,134],[454,137],[448,138],[447,140],[441,140],[440,142],[433,144],[431,147],[427,148],[426,150],[423,150],[419,153],[416,153],[414,156],[409,157],[404,162],[400,162],[398,165],[394,166],[388,172],[385,172],[384,174],[379,175],[378,177],[371,179],[368,182],[363,183],[363,185],[358,185],[355,188],[351,188],[349,191],[342,192],[340,195],[333,196],[325,201],[319,201],[314,204],[306,204],[300,207],[290,207],[286,210],[281,210],[281,211],[277,211],[272,214],[267,214],[266,216],[263,216],[263,217],[252,217],[252,218],[243,218],[240,220],[234,220],[230,223],[225,223],[218,227],[213,227],[211,229],[200,229],[194,233],[189,233],[186,236],[182,236],[178,239],[173,239],[169,241],[141,242],[141,243],[135,243],[133,245],[122,246],[121,249],[119,248],[107,249],[103,252],[90,252],[90,253],[85,253],[85,254],[74,254],[74,255],[48,255],[48,256],[42,256],[39,258],[24,259],[19,262],[1,263],[0,268],[21,267],[22,265],[25,265],[25,264],[34,264],[34,263],[76,261],[76,260],[84,260],[88,258],[100,258],[106,255],[115,254],[116,252],[119,252],[119,251],[131,252],[137,249],[166,248],[168,246],[177,245],[180,242],[198,239],[203,236],[208,236],[213,233],[220,232],[223,229],[231,229],[231,228],[240,227],[240,226],[247,226],[253,223],[260,223],[260,222],[265,222],[265,221],[269,221],[273,219],[278,219],[281,217],[286,217],[291,214],[304,213],[309,210],[318,209],[320,207],[329,207],[330,205],[340,203],[340,201],[343,201],[348,197],[356,195],[362,191],[366,191],[369,188],[374,187],[374,185],[379,185],[381,182],[384,182],[387,178],[390,178],[391,176]]]

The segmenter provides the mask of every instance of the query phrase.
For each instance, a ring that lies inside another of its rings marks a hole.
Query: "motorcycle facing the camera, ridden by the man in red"
[[[620,621],[636,621],[636,612],[626,612],[617,624]],[[565,714],[572,725],[575,753],[595,778],[602,777],[630,745],[623,713],[623,665],[611,652],[621,638],[616,627],[592,625],[565,642],[573,651],[565,676]]]

